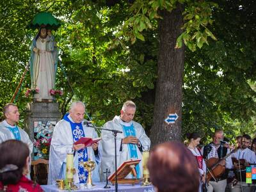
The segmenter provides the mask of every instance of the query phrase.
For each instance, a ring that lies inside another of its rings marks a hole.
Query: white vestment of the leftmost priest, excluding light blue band
[[[7,140],[15,140],[15,136],[13,135],[12,131],[8,129],[8,127],[12,129],[12,127],[15,127],[15,126],[8,124],[6,120],[0,123],[0,143],[3,143],[3,141],[7,141]],[[18,127],[18,129],[20,132],[20,141],[28,145],[29,152],[31,154],[33,151],[33,143],[29,139],[28,133],[23,129],[20,129],[20,127]]]

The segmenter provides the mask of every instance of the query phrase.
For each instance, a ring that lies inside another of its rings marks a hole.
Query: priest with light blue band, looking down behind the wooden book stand
[[[136,105],[131,100],[124,103],[120,116],[115,116],[113,120],[104,124],[105,129],[115,129],[122,131],[116,136],[116,154],[117,154],[117,168],[124,161],[131,159],[142,159],[143,148],[150,148],[150,139],[145,134],[145,130],[138,122],[134,122],[134,114],[136,112]],[[102,143],[102,163],[100,170],[100,179],[106,180],[106,175],[103,172],[110,170],[115,172],[115,140],[113,132],[101,132],[100,141]],[[137,178],[143,177],[142,163],[136,166]],[[127,178],[132,178],[129,174]]]

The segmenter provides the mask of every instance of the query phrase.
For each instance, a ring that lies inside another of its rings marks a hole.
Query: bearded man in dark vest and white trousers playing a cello
[[[223,142],[224,132],[221,130],[216,130],[214,132],[214,136],[212,137],[212,142],[202,148],[202,154],[207,161],[212,157],[222,159],[227,154],[230,153],[230,150],[225,147],[225,142]],[[222,142],[221,142],[222,141]],[[221,166],[225,166],[225,168],[232,168],[232,160],[231,157],[227,157],[226,160],[220,163]],[[218,178],[211,178],[209,184],[207,186],[207,190],[209,192],[224,192],[227,186],[227,172],[220,175]]]

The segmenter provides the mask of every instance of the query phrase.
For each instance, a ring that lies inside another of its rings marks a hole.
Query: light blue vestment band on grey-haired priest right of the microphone
[[[130,126],[123,126],[123,130],[124,130],[124,135],[125,137],[127,136],[136,136],[136,132],[135,129],[133,127],[133,124],[131,124]],[[136,144],[132,144],[129,143],[128,144],[128,149],[129,149],[129,155],[131,159],[138,159],[138,154],[137,154],[137,146]],[[140,164],[137,164],[136,167],[136,172],[137,172],[137,179],[140,179]]]

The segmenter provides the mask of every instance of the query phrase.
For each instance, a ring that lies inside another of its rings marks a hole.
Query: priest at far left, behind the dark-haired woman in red
[[[19,122],[20,113],[15,104],[8,103],[3,108],[4,121],[0,123],[0,143],[6,140],[20,140],[29,147],[30,154],[33,151],[33,143],[28,133],[20,129],[16,124]]]

